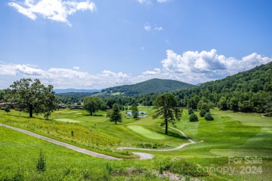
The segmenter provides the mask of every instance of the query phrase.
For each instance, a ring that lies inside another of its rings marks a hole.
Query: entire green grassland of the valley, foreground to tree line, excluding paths
[[[139,107],[139,111],[151,115],[153,109]],[[259,113],[233,113],[214,109],[211,113],[215,120],[206,121],[200,118],[198,112],[195,113],[199,121],[191,123],[188,111],[184,110],[176,128],[190,139],[202,143],[187,145],[171,152],[142,151],[156,156],[151,160],[137,160],[137,156],[131,154],[133,150],[120,151],[116,148],[175,148],[181,143],[188,143],[188,140],[174,129],[169,129],[169,134],[165,135],[164,127],[160,127],[162,120],[153,120],[151,116],[134,120],[126,118],[123,112],[123,122],[114,125],[105,117],[105,111],[89,116],[83,110],[60,109],[52,113],[50,120],[44,120],[43,116],[27,118],[26,113],[14,110],[8,114],[0,111],[0,123],[124,159],[110,161],[82,155],[0,127],[0,157],[3,161],[0,162],[0,180],[13,178],[16,174],[31,180],[88,180],[91,177],[93,180],[158,180],[163,179],[158,176],[160,170],[204,180],[271,180],[272,118],[262,117]],[[40,149],[47,155],[48,167],[45,173],[37,172],[34,168]],[[229,158],[242,160],[239,163],[229,162]],[[247,158],[262,159],[262,163],[248,164]],[[172,159],[178,161],[173,162]],[[111,166],[114,171],[109,171]],[[216,168],[235,168],[235,171],[223,172]],[[247,170],[243,173],[243,169]],[[128,176],[130,171],[135,173],[134,177]],[[89,176],[84,176],[85,173]]]

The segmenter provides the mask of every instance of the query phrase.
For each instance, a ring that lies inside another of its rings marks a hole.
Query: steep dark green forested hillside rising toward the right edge
[[[201,86],[175,91],[181,105],[196,109],[203,102],[222,110],[272,111],[272,63],[210,81]]]

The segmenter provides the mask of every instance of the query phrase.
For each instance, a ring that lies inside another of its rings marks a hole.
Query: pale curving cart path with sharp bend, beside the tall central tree
[[[195,143],[202,143],[203,142],[203,141],[199,141],[199,142],[192,141],[192,139],[189,139],[188,136],[186,136],[186,134],[181,132],[181,130],[176,129],[174,127],[170,127],[170,128],[176,130],[179,133],[181,133],[182,136],[184,136],[184,138],[186,138],[188,141],[190,141],[190,143],[183,143],[183,144],[179,145],[176,148],[170,148],[170,149],[151,149],[151,148],[133,148],[133,147],[119,147],[117,149],[118,150],[144,150],[144,151],[169,152],[169,151],[174,151],[174,150],[179,150],[181,148],[184,148],[186,145],[195,144]]]

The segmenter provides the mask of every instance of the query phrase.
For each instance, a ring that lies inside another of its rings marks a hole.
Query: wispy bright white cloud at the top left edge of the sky
[[[24,0],[8,3],[22,15],[35,20],[38,16],[52,19],[56,22],[64,22],[72,26],[68,21],[68,15],[73,15],[78,10],[96,10],[95,3],[91,1],[62,1],[62,0]]]

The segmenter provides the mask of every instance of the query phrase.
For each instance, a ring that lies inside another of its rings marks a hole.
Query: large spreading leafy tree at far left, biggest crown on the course
[[[20,79],[13,82],[5,90],[5,99],[20,111],[29,112],[31,118],[33,113],[44,113],[44,117],[48,118],[58,106],[53,86],[46,87],[39,79]]]

